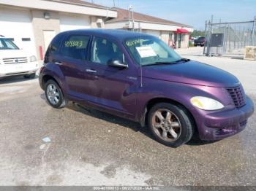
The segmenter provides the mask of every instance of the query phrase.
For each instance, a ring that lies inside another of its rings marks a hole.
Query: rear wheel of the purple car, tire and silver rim
[[[45,97],[48,104],[54,108],[59,109],[66,105],[61,87],[53,79],[45,83]]]

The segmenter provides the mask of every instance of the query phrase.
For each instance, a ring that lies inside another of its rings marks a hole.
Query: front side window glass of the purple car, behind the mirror
[[[91,61],[106,65],[110,59],[124,63],[124,54],[115,43],[104,38],[95,37],[92,45]]]

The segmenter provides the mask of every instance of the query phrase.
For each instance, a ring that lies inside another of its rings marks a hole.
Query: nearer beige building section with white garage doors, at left
[[[115,9],[80,0],[0,0],[0,35],[42,59],[53,36],[78,28],[104,28]]]

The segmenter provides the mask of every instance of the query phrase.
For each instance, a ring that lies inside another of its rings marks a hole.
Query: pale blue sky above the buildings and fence
[[[86,0],[113,7],[114,0]],[[162,17],[203,30],[206,20],[235,22],[253,20],[256,16],[256,0],[115,0],[116,7]]]

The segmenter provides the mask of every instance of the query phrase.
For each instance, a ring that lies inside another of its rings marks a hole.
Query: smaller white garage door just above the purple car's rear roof
[[[61,32],[81,28],[91,28],[89,16],[84,15],[60,15]]]

